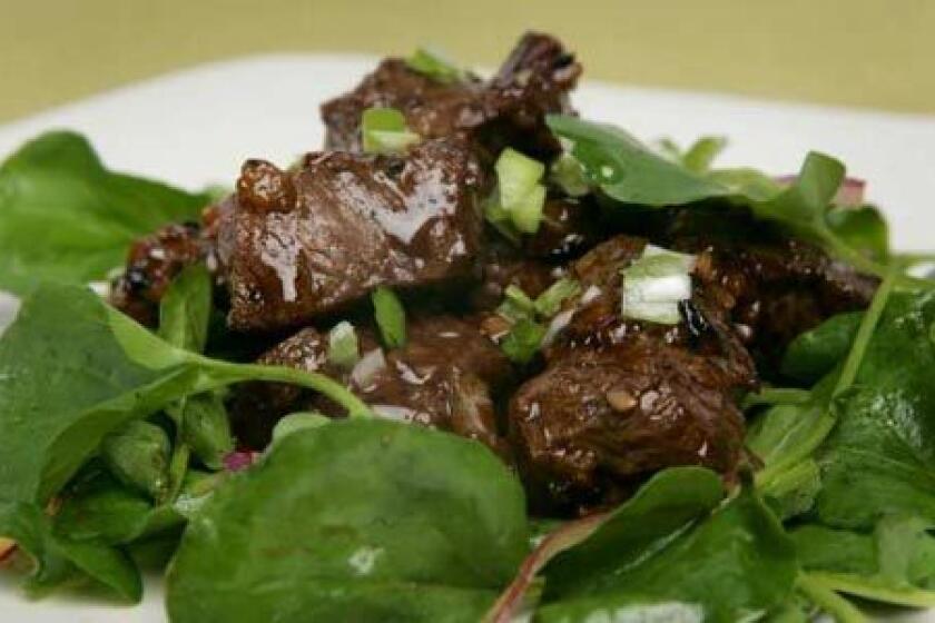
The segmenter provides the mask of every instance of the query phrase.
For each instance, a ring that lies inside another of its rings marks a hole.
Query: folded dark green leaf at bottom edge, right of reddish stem
[[[675,483],[681,486],[624,504],[547,565],[537,620],[626,613],[734,622],[786,603],[795,550],[752,487],[712,511],[717,476],[700,468],[682,474],[685,482]]]

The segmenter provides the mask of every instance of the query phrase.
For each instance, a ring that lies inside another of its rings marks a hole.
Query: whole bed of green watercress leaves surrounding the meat
[[[549,125],[573,146],[550,175],[614,209],[726,198],[883,279],[866,312],[793,343],[794,386],[747,397],[761,463],[732,491],[676,467],[609,512],[540,521],[483,445],[374,417],[325,376],[225,358],[203,267],[144,328],[87,284],[211,196],[112,172],[52,132],[0,168],[0,288],[22,298],[0,339],[0,557],[26,592],[131,604],[165,570],[177,623],[850,623],[868,602],[935,606],[935,283],[909,275],[918,258],[887,247],[876,209],[836,206],[830,157],[786,187],[712,169],[713,140],[660,151]],[[223,397],[245,380],[314,388],[348,417],[295,414],[238,453]]]

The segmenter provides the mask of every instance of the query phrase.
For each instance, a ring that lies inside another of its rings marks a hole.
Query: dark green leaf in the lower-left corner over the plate
[[[121,600],[138,602],[142,583],[134,563],[119,550],[56,535],[50,520],[33,504],[0,501],[0,536],[12,538],[35,563],[27,590],[41,594],[86,575]]]

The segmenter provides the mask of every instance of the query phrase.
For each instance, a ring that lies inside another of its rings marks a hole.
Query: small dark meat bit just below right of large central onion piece
[[[549,198],[539,230],[524,239],[523,250],[550,260],[579,255],[601,238],[599,207],[591,198]]]

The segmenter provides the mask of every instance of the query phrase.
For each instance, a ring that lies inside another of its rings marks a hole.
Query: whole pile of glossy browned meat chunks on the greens
[[[114,303],[151,324],[186,265],[207,261],[234,334],[265,345],[264,364],[346,383],[381,417],[486,444],[516,467],[533,507],[578,513],[629,495],[653,472],[697,464],[730,481],[745,461],[738,399],[785,345],[831,314],[865,306],[875,281],[737,210],[660,210],[633,224],[594,197],[549,188],[539,231],[512,244],[485,225],[492,165],[506,146],[542,161],[560,146],[544,123],[573,113],[581,66],[554,38],[529,33],[500,71],[435,81],[387,59],[322,107],[325,150],[282,170],[248,160],[236,191],[200,226],[139,240]],[[421,136],[401,155],[364,154],[361,117],[403,112]],[[621,317],[621,269],[647,244],[697,256],[678,325]],[[510,285],[535,297],[581,284],[525,365],[498,345]],[[371,293],[407,312],[407,343],[382,348]],[[351,319],[367,374],[328,363],[327,332]],[[283,415],[335,405],[295,387],[249,384],[230,409],[239,442],[262,447]]]

